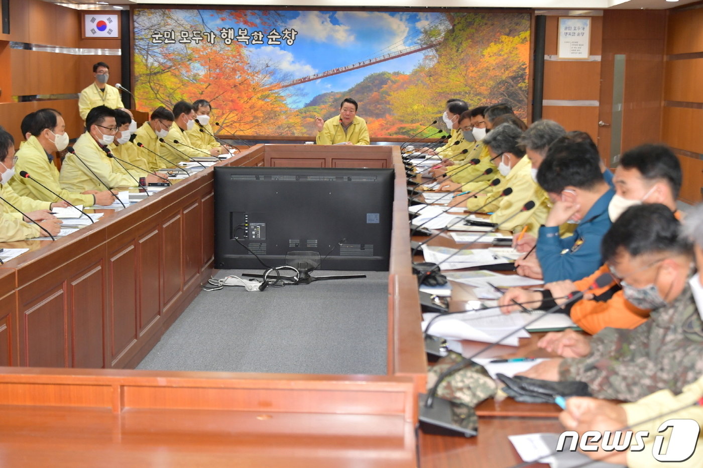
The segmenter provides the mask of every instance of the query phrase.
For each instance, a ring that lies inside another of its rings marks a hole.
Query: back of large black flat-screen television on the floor
[[[321,270],[387,271],[393,183],[392,169],[215,167],[215,268],[303,251]]]

